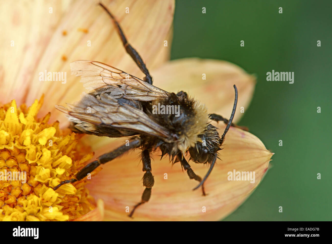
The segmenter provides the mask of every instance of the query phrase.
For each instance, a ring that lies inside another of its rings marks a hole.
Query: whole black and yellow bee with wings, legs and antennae
[[[232,124],[238,97],[236,86],[234,85],[235,101],[229,120],[220,115],[208,114],[204,104],[184,91],[175,94],[153,86],[148,69],[138,52],[128,43],[119,23],[102,3],[99,5],[113,20],[125,50],[145,77],[141,80],[97,61],[75,61],[70,64],[72,74],[81,76],[83,86],[90,92],[83,93],[80,101],[68,104],[69,108],[58,105],[55,107],[67,114],[71,122],[70,128],[75,132],[108,137],[130,136],[131,139],[126,145],[99,156],[97,160],[83,167],[74,179],[62,181],[53,189],[82,180],[99,165],[138,148],[141,150],[145,172],[145,190],[141,201],[133,207],[129,217],[132,217],[139,205],[148,202],[151,197],[154,178],[150,154],[156,150],[161,151],[161,157],[169,155],[173,164],[180,162],[189,178],[200,182],[193,190],[201,187],[205,196],[204,182],[213,169],[229,127],[236,126]],[[157,107],[169,108],[171,113],[156,113]],[[221,137],[217,127],[210,124],[212,120],[227,124]],[[194,173],[185,159],[184,155],[188,152],[195,163],[210,165],[203,179]]]

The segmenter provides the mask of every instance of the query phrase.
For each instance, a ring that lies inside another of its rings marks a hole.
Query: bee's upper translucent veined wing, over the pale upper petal
[[[113,98],[152,101],[169,93],[149,83],[97,61],[78,60],[70,64],[71,74],[81,76],[91,94],[109,93]]]

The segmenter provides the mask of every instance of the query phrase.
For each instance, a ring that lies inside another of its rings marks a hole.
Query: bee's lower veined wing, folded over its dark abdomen
[[[166,128],[151,120],[142,110],[119,103],[108,93],[97,96],[83,93],[80,101],[68,104],[68,109],[58,105],[55,107],[71,117],[95,125],[119,128],[119,131],[123,129],[136,131],[162,138],[170,137]]]

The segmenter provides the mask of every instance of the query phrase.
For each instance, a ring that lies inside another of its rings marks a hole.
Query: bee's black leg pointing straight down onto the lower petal
[[[139,206],[142,205],[143,203],[146,203],[149,201],[151,197],[151,189],[154,185],[154,178],[151,173],[151,159],[150,159],[150,152],[147,149],[144,149],[142,151],[142,163],[143,163],[143,171],[145,171],[144,176],[143,176],[143,186],[145,186],[145,190],[142,194],[142,199],[139,203],[137,203],[132,211],[129,213],[129,217],[132,217],[134,214],[135,209]]]

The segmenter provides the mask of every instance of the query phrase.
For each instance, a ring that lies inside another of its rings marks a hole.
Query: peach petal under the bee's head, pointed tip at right
[[[222,133],[224,125],[219,123]],[[109,145],[109,150],[121,145],[117,140]],[[253,134],[231,127],[226,135],[221,160],[205,183],[207,196],[201,190],[192,191],[198,184],[189,180],[179,163],[171,164],[165,157],[159,161],[160,152],[152,160],[155,184],[148,203],[139,206],[134,218],[127,216],[129,210],[141,199],[142,186],[140,153],[129,152],[105,165],[88,185],[91,195],[105,202],[105,220],[220,220],[233,212],[258,186],[265,175],[272,153]],[[96,154],[98,155],[98,154]],[[188,158],[187,158],[188,160]],[[196,174],[203,177],[207,165],[189,162]],[[228,172],[253,171],[255,182],[228,181]],[[167,173],[167,179],[164,174]],[[203,212],[206,207],[206,212]]]

